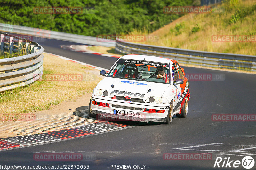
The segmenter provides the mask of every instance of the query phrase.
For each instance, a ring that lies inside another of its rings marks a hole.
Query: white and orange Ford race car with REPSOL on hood
[[[189,84],[175,60],[124,55],[100,75],[106,77],[93,90],[90,117],[170,124],[174,114],[187,116]]]

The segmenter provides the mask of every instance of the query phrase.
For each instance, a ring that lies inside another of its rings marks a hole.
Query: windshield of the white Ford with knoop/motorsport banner
[[[169,64],[120,59],[109,71],[108,77],[169,83],[169,75]]]

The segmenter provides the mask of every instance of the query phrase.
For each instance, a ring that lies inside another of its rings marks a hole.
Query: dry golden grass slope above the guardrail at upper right
[[[239,18],[236,23],[229,24],[229,20],[238,9],[243,10],[255,4],[255,0],[230,0],[217,6],[224,7],[226,9],[224,13],[185,15],[150,34],[156,35],[158,37],[157,41],[143,43],[210,52],[256,55],[255,42],[212,42],[211,40],[212,35],[255,36],[256,11],[244,18]],[[175,27],[179,24],[184,26],[177,32]],[[192,32],[193,27],[197,27],[197,25],[199,30]],[[138,31],[135,30],[131,34],[138,34]]]

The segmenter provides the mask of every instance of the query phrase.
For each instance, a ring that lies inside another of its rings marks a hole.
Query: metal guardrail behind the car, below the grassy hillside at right
[[[121,39],[116,39],[115,49],[123,54],[142,54],[172,58],[183,64],[256,71],[256,56],[253,55],[185,50],[180,48],[125,42]]]

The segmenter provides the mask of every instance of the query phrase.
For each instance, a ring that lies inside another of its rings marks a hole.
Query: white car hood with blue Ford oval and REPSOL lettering
[[[112,87],[111,87],[112,86]],[[130,96],[130,97],[162,97],[169,84],[125,80],[106,77],[99,82],[95,89],[107,90],[111,96]]]

